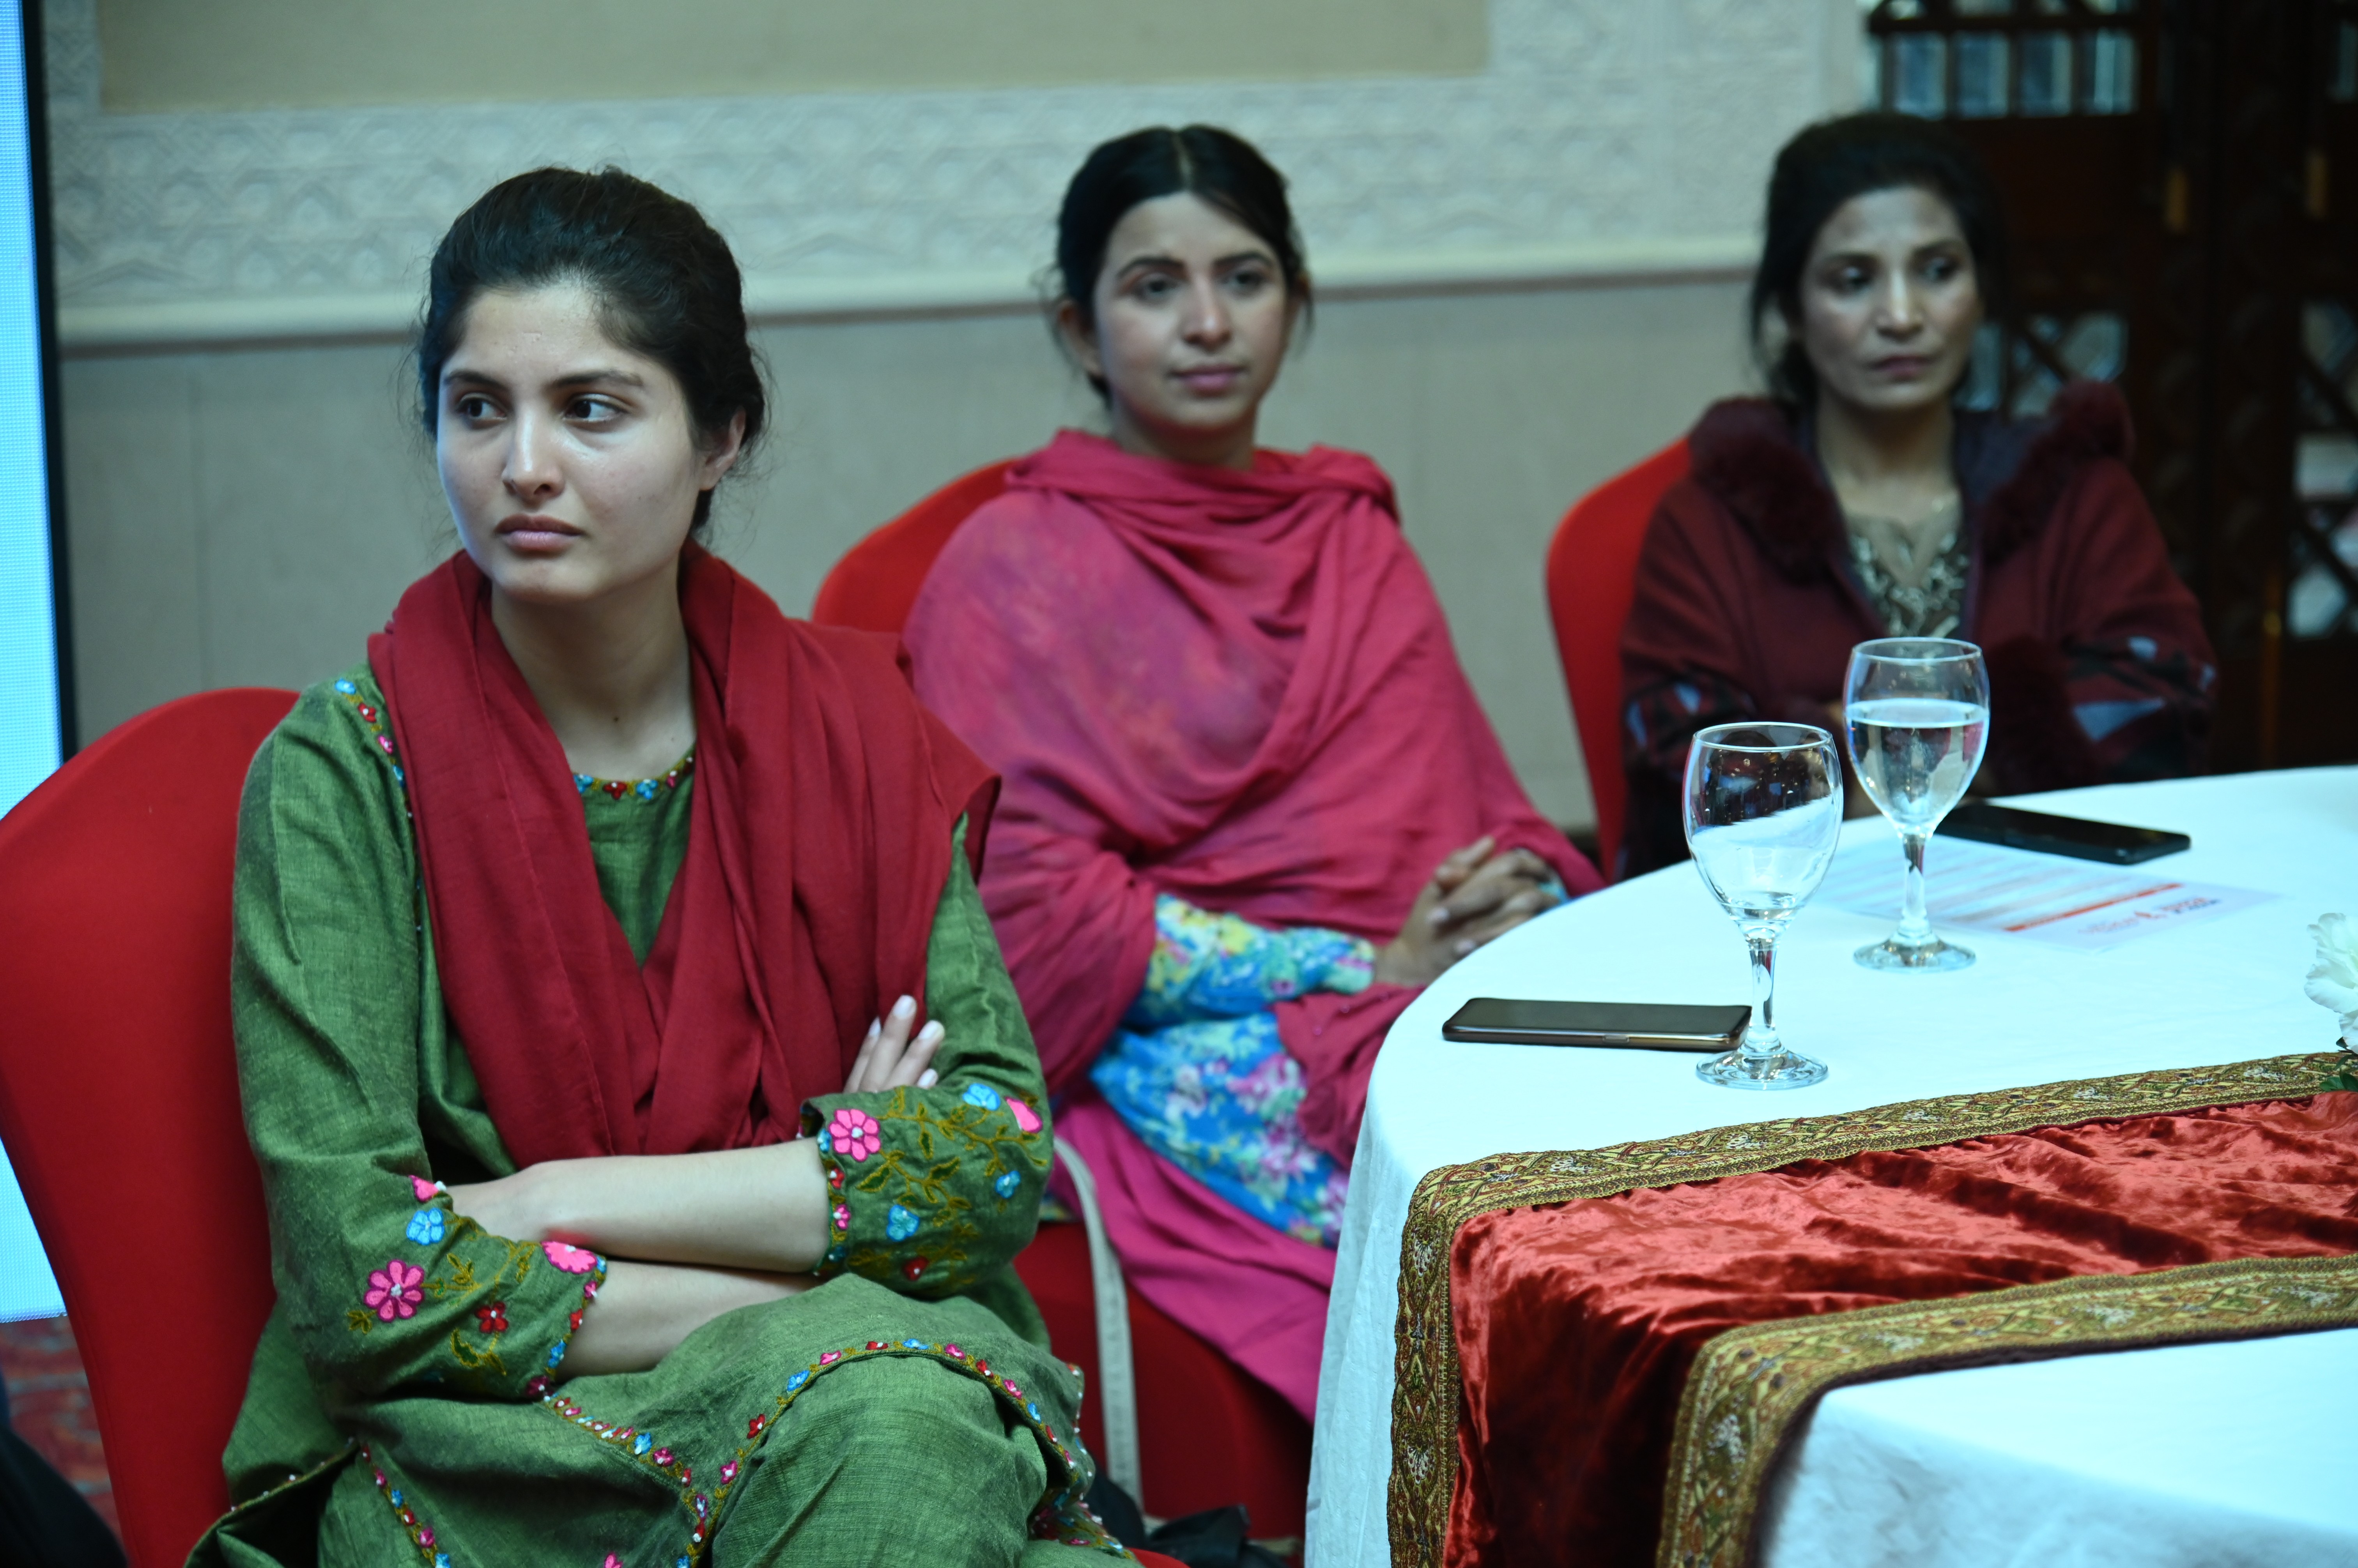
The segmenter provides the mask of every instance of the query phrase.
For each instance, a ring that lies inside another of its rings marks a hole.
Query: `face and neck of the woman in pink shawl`
[[[1252,462],[1252,424],[1285,363],[1295,299],[1269,243],[1198,196],[1122,215],[1096,276],[1096,332],[1066,307],[1113,434],[1181,462]]]

